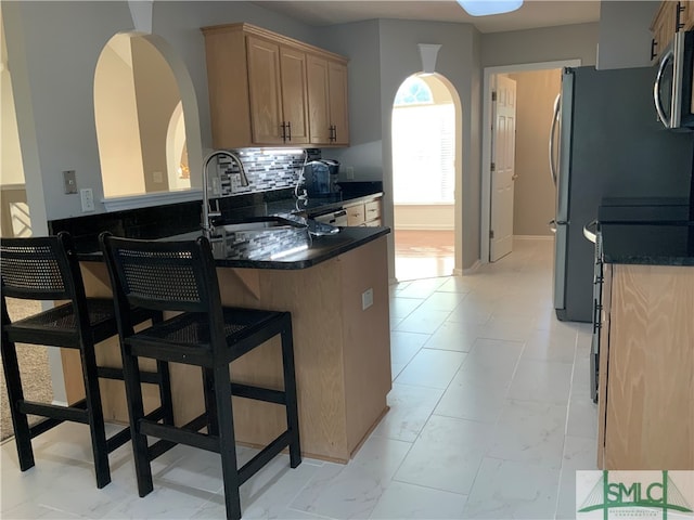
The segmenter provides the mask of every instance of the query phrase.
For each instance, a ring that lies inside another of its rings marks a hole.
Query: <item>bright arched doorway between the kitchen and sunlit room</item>
[[[394,100],[391,126],[398,281],[453,274],[460,129],[460,99],[445,77],[406,78]]]

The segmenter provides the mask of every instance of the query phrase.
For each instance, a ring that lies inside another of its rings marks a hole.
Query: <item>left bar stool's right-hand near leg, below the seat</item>
[[[111,482],[108,469],[108,448],[104,430],[104,414],[101,406],[101,391],[97,368],[94,344],[89,342],[80,349],[82,362],[82,377],[85,380],[85,395],[87,400],[87,416],[91,434],[91,450],[94,456],[94,471],[97,472],[97,487],[102,489]]]

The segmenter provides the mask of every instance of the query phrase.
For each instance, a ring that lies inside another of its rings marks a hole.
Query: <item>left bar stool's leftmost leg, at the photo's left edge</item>
[[[4,309],[3,309],[4,313]],[[34,450],[31,448],[31,432],[26,414],[20,412],[18,403],[24,400],[22,390],[22,378],[20,376],[20,363],[17,361],[16,346],[2,335],[2,367],[4,368],[4,380],[8,387],[8,398],[10,401],[10,413],[12,414],[12,426],[14,428],[14,442],[17,446],[17,458],[20,469],[26,471],[33,468]]]

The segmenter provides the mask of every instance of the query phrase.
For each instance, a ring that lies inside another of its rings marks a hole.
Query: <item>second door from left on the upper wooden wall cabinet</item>
[[[280,54],[284,143],[306,144],[309,138],[306,54],[286,47],[280,49]]]

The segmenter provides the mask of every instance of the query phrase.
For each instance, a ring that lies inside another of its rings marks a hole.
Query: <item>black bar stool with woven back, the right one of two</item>
[[[291,314],[222,307],[205,237],[147,242],[104,233],[100,239],[116,296],[140,496],[153,490],[151,460],[172,445],[187,444],[221,455],[227,518],[240,519],[241,484],[284,447],[290,448],[292,468],[301,463]],[[178,313],[134,333],[131,306]],[[231,382],[231,362],[277,335],[282,340],[284,390]],[[200,366],[205,412],[179,427],[144,417],[139,356]],[[286,430],[241,468],[236,466],[232,394],[283,405],[286,411]],[[204,428],[206,433],[201,433]],[[149,445],[147,435],[159,441]]]

